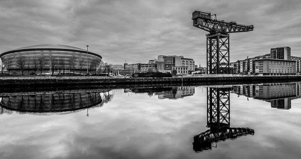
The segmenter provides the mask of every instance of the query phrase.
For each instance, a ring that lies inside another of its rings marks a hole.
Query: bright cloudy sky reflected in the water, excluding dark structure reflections
[[[66,115],[1,115],[0,158],[4,154],[7,158],[283,158],[285,155],[297,158],[301,155],[297,106],[275,111],[260,100],[248,102],[246,97],[237,98],[233,94],[230,100],[231,126],[254,128],[255,135],[220,142],[218,148],[202,154],[194,153],[191,148],[192,136],[208,129],[206,91],[202,93],[196,88],[195,95],[177,100],[114,93],[109,103],[89,110],[89,117],[85,110]],[[301,100],[294,100],[292,105],[300,103]]]

